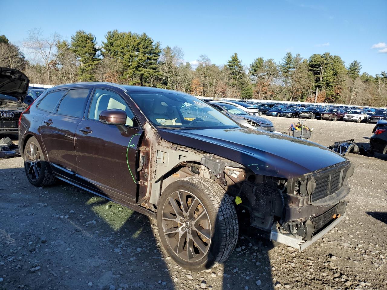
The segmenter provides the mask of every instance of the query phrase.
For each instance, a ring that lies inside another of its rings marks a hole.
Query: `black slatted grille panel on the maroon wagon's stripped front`
[[[341,188],[344,168],[345,165],[334,167],[313,176],[316,180],[316,188],[312,193],[312,203],[335,193]]]

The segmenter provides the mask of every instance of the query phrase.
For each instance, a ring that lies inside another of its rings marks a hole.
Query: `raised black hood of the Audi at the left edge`
[[[29,79],[24,73],[13,68],[0,67],[0,100],[23,102],[26,97]]]

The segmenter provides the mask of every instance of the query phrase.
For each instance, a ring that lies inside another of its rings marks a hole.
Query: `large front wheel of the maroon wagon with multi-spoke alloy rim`
[[[180,266],[202,271],[223,263],[238,241],[238,218],[224,189],[204,177],[171,183],[161,194],[161,243]]]

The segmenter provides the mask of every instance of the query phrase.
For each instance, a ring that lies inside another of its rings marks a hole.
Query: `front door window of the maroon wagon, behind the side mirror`
[[[96,89],[94,96],[91,100],[89,114],[87,118],[99,121],[99,114],[103,110],[108,109],[121,109],[126,113],[127,126],[137,127],[137,123],[134,118],[134,114],[129,109],[128,105],[123,101],[122,97],[111,92],[110,90]]]

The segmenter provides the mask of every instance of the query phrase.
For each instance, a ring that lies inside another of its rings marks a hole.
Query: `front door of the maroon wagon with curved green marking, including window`
[[[122,109],[127,114],[126,132],[115,125],[99,122],[99,113],[106,109]],[[118,93],[96,89],[89,111],[75,133],[77,175],[92,190],[125,203],[136,202],[136,157],[142,135],[134,114]]]

